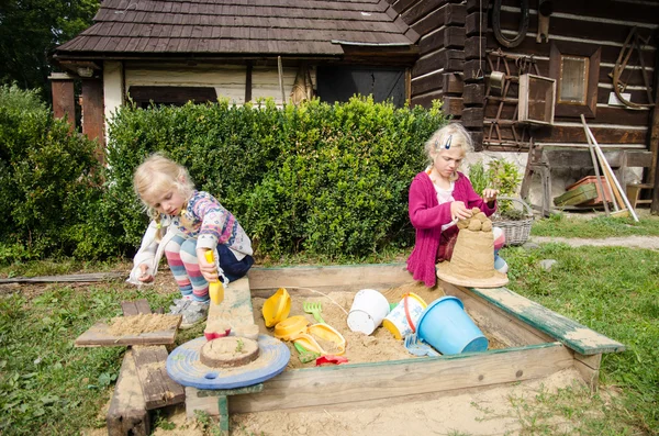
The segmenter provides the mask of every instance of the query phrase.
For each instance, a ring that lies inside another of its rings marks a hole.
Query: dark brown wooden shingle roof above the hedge
[[[330,55],[395,47],[418,34],[386,0],[104,0],[94,24],[57,48],[77,55]]]

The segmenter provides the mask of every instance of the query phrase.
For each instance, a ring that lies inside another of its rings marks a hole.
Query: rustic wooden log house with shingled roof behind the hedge
[[[74,113],[81,79],[82,132],[102,143],[103,118],[129,98],[281,103],[302,75],[326,101],[440,99],[477,150],[526,152],[533,138],[559,150],[557,166],[572,159],[565,149],[588,153],[583,114],[619,166],[646,168],[638,187],[652,188],[657,27],[659,2],[647,0],[104,0],[55,53],[67,74],[53,76],[54,108]],[[659,190],[645,198],[659,212]]]

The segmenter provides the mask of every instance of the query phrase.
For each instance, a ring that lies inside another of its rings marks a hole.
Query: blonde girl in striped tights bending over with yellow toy
[[[182,314],[181,327],[189,327],[206,317],[209,281],[219,276],[233,281],[252,267],[252,242],[213,195],[194,189],[185,167],[161,154],[137,167],[133,186],[152,222],[133,259],[129,281],[152,282],[165,254],[181,292],[171,312]],[[217,264],[205,260],[208,249],[215,251]]]

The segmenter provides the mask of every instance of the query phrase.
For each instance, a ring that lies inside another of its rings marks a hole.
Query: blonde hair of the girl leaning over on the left
[[[194,191],[194,183],[186,167],[160,153],[154,153],[135,169],[133,188],[148,215],[159,222],[159,214],[152,206],[150,200],[159,198],[170,189],[178,190],[181,197],[189,199]]]

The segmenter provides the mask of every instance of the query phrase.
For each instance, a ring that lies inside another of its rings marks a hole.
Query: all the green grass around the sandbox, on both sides
[[[533,230],[534,235],[548,236],[593,233],[659,235],[659,219],[644,217],[633,224],[559,215],[537,221]],[[364,260],[401,261],[407,253],[389,251]],[[576,388],[511,399],[522,434],[659,435],[659,253],[544,244],[534,250],[505,248],[502,255],[511,266],[512,290],[628,347],[625,353],[604,355],[600,395]],[[548,258],[558,260],[550,271],[538,266]],[[317,265],[316,260],[298,256],[283,264]],[[112,269],[127,267],[30,262],[0,268],[0,277]],[[123,282],[0,288],[0,434],[72,435],[103,427],[102,407],[111,395],[124,348],[76,348],[75,338],[96,322],[119,315],[123,300],[146,298],[155,309],[168,306],[174,297]],[[180,332],[177,344],[201,336],[202,328]],[[605,395],[610,391],[618,393]],[[561,427],[567,421],[570,427]],[[155,426],[166,429],[171,424],[156,416]]]

